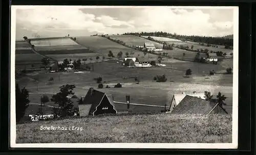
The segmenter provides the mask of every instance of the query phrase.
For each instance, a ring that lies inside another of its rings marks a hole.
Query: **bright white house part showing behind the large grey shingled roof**
[[[173,109],[181,102],[181,100],[182,100],[186,95],[205,99],[204,93],[193,92],[192,94],[185,94],[185,93],[183,92],[182,94],[174,94],[174,95],[173,95],[173,99],[172,99],[172,101],[170,102],[169,112],[172,112]]]

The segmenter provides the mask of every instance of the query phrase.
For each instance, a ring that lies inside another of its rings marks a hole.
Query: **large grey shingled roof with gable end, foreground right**
[[[210,102],[202,98],[186,95],[171,114],[227,114],[227,111],[218,103]]]

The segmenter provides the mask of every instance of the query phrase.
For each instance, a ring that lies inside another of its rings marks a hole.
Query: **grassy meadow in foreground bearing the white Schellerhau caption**
[[[40,130],[40,126],[67,131]],[[82,127],[82,131],[69,126]],[[230,115],[136,114],[16,125],[16,143],[231,143]]]

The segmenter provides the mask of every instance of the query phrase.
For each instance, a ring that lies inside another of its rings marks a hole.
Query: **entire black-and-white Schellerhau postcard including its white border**
[[[11,6],[11,147],[237,148],[238,10]]]

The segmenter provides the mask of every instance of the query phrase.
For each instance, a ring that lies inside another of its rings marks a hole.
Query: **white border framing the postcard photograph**
[[[16,143],[15,118],[15,31],[16,9],[36,7],[75,7],[75,8],[132,8],[134,6],[11,6],[11,79],[10,79],[10,146],[12,148],[174,148],[174,149],[235,149],[238,148],[238,25],[239,7],[197,7],[175,6],[176,9],[233,9],[233,105],[232,105],[232,143]],[[146,6],[136,6],[136,8]],[[159,6],[158,6],[159,7]],[[166,6],[167,7],[167,6]]]

